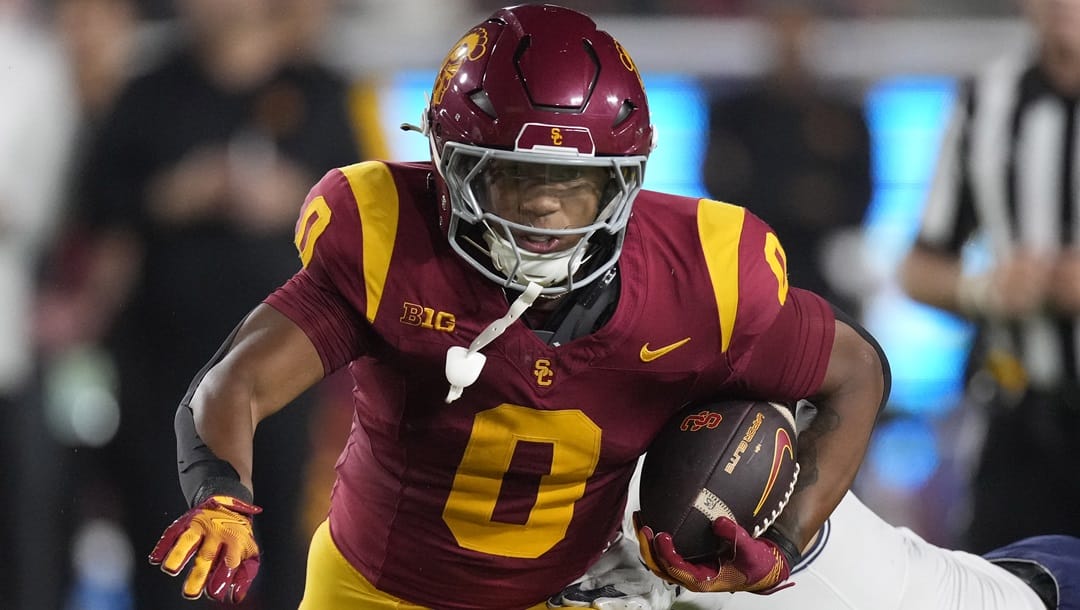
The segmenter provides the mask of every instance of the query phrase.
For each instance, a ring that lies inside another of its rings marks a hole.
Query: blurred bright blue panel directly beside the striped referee
[[[950,78],[893,77],[876,82],[866,96],[875,177],[865,226],[874,247],[867,256],[886,282],[864,317],[892,364],[890,408],[927,416],[957,405],[971,329],[907,299],[892,272],[915,238],[955,89]]]

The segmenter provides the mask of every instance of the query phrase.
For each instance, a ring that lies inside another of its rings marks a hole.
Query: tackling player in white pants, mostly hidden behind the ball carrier
[[[930,544],[848,492],[771,595],[676,589],[650,573],[632,543],[638,473],[624,536],[557,604],[602,610],[1080,610],[1080,539],[1039,536],[984,556]],[[673,606],[674,604],[674,606]]]

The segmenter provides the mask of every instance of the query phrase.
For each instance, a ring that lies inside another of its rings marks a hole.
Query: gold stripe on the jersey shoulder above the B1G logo
[[[364,290],[367,296],[367,321],[374,323],[382,300],[382,289],[390,272],[390,257],[397,236],[397,188],[390,170],[377,161],[341,168],[353,199],[364,240]]]

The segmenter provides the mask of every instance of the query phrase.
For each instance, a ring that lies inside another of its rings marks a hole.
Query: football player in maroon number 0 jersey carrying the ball
[[[814,397],[802,486],[723,572],[642,538],[685,587],[781,584],[885,402],[873,339],[788,286],[780,241],[744,208],[642,190],[640,74],[581,13],[495,12],[453,46],[414,128],[430,162],[359,163],[312,188],[302,269],[195,377],[176,414],[190,509],[150,560],[191,564],[187,597],[242,599],[259,562],[256,425],[348,367],[353,426],[301,608],[544,608],[618,538],[667,418],[724,395]]]

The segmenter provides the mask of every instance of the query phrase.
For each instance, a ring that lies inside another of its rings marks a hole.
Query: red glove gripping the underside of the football
[[[791,575],[787,558],[775,543],[753,538],[727,517],[713,521],[713,532],[728,541],[731,553],[712,565],[691,564],[684,559],[675,551],[670,533],[653,533],[652,528],[640,525],[636,513],[634,527],[645,565],[658,577],[689,591],[773,593]]]

